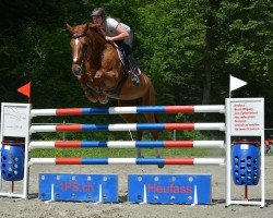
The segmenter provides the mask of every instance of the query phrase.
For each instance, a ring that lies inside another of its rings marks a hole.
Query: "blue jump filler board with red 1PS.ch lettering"
[[[39,199],[117,203],[118,175],[39,173]]]

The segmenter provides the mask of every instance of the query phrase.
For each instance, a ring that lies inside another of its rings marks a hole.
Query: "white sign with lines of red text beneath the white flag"
[[[263,99],[230,99],[230,134],[259,136],[264,131]]]

